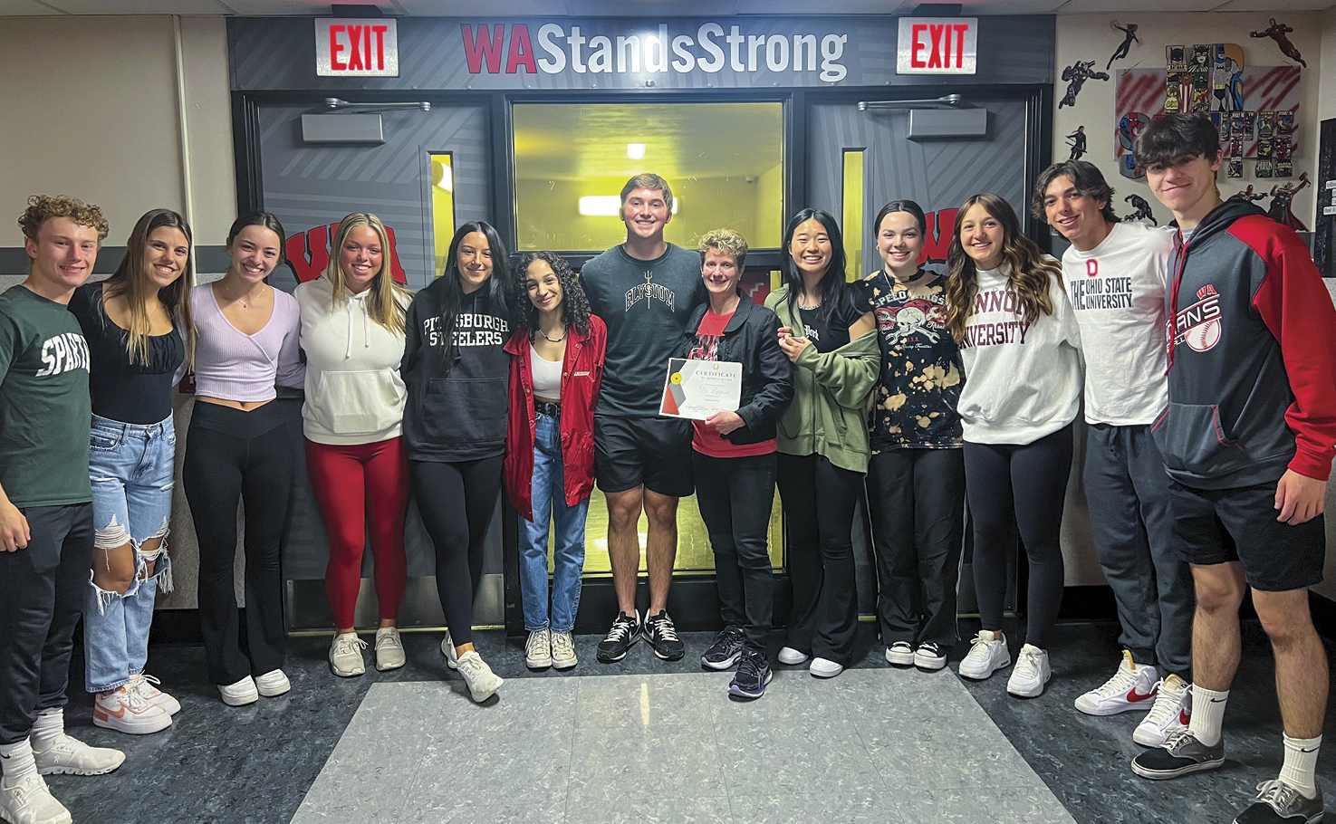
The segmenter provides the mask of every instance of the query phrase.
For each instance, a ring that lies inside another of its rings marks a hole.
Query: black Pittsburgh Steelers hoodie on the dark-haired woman
[[[452,354],[441,315],[446,286],[437,278],[409,304],[399,366],[409,390],[403,439],[414,461],[494,458],[505,451],[510,325],[480,288],[460,306]]]

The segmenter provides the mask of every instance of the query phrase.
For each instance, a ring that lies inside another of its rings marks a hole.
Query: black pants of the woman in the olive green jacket
[[[816,454],[780,453],[778,466],[794,584],[788,645],[848,666],[858,634],[854,505],[863,475]]]

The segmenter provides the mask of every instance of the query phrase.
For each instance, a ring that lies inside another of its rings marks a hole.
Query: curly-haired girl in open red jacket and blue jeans
[[[510,353],[505,487],[520,513],[520,594],[530,669],[578,664],[576,609],[584,573],[584,525],[593,491],[593,407],[603,383],[608,327],[589,314],[580,279],[556,252],[520,258],[520,329]],[[552,609],[548,609],[548,526]]]

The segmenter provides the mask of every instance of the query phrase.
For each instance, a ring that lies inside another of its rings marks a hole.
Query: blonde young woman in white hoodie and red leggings
[[[375,669],[403,666],[399,602],[407,578],[403,517],[409,461],[403,450],[399,377],[403,325],[413,292],[390,274],[390,239],[381,219],[353,212],[330,243],[325,274],[297,287],[306,353],[302,431],[311,490],[325,517],[330,560],[325,592],[334,613],[330,670],[366,672],[366,642],[353,628],[370,526],[375,557]]]

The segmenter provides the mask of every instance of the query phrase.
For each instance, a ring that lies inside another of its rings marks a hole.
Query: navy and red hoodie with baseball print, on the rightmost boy
[[[1185,486],[1325,481],[1336,454],[1336,308],[1308,247],[1244,202],[1174,243],[1169,406],[1152,426]]]

